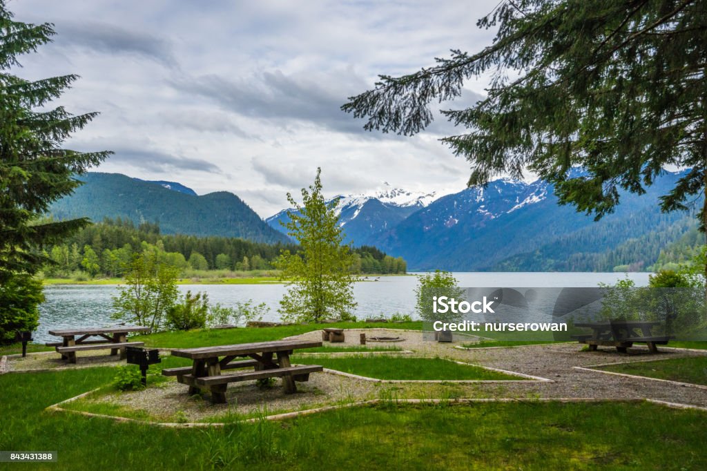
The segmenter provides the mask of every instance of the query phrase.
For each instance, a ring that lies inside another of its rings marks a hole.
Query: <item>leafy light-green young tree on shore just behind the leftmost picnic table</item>
[[[152,253],[135,255],[127,267],[125,285],[112,297],[112,318],[160,330],[165,314],[179,298],[178,275],[178,269],[158,262]]]

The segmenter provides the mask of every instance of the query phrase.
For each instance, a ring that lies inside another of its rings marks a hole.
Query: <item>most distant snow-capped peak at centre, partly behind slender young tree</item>
[[[335,211],[339,216],[339,224],[344,228],[346,242],[367,245],[375,234],[397,226],[410,214],[427,207],[438,197],[440,194],[436,192],[411,192],[384,182],[380,189],[372,192],[339,195],[328,202],[338,200]],[[293,209],[283,209],[265,221],[271,227],[286,233],[280,221],[286,221],[291,211]]]

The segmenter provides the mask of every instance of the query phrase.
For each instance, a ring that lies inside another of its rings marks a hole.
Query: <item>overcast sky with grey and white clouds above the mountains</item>
[[[260,216],[312,182],[328,196],[390,182],[459,191],[466,161],[423,134],[364,132],[339,110],[373,86],[489,45],[476,21],[498,0],[11,0],[19,21],[54,23],[54,42],[21,59],[26,79],[78,74],[54,104],[101,115],[67,146],[112,150],[96,170],[227,190]],[[473,103],[486,82],[441,108]],[[458,132],[458,130],[457,130]]]

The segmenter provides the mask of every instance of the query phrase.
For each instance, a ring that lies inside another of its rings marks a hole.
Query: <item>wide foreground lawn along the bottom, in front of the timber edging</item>
[[[44,412],[114,374],[0,376],[0,450],[57,451],[59,463],[26,465],[46,470],[707,468],[707,415],[648,403],[390,404],[208,430]]]

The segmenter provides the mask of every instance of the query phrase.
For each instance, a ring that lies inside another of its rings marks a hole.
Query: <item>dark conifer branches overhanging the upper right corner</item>
[[[619,190],[642,194],[665,168],[690,170],[662,210],[703,195],[706,1],[501,1],[477,25],[498,28],[491,46],[380,76],[342,108],[368,117],[365,129],[416,134],[432,121],[433,100],[459,97],[483,74],[492,77],[486,98],[442,112],[467,129],[442,141],[472,164],[469,185],[531,170],[554,184],[561,204],[597,219],[614,210]],[[707,199],[699,221],[704,231]]]

